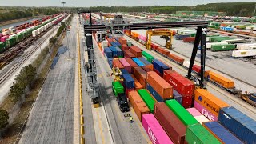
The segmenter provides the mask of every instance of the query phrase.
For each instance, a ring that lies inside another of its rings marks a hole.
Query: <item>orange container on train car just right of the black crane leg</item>
[[[209,78],[211,81],[217,82],[219,85],[227,89],[234,88],[234,81],[231,81],[230,79],[225,78],[220,74],[216,74],[213,71],[206,70],[205,77]]]

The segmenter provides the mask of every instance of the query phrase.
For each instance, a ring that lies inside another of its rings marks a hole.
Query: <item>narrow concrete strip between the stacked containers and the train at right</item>
[[[127,36],[125,36],[125,38],[133,42],[135,46],[142,48],[142,50],[145,50],[146,52],[154,56],[154,58],[162,59],[164,62],[172,66],[173,70],[177,71],[179,74],[182,74],[183,76],[187,75],[187,70],[182,66],[174,62],[171,62],[169,59],[162,57],[162,55],[154,51],[146,50],[145,46],[142,46],[142,44],[140,44],[139,42],[135,42],[133,39]],[[250,104],[242,101],[240,98],[234,97],[234,95],[226,92],[225,90],[218,88],[218,86],[214,86],[210,82],[207,83],[206,87],[207,87],[207,90],[210,91],[210,93],[222,99],[224,102],[227,102],[228,104],[230,104],[230,106],[234,106],[238,110],[242,111],[242,113],[250,116],[250,118],[253,118],[254,120],[256,120],[256,111],[254,106],[250,106]]]

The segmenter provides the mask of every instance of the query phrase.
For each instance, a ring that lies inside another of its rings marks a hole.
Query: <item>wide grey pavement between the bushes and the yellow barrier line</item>
[[[73,143],[74,137],[74,57],[76,54],[76,21],[68,34],[68,52],[60,55],[30,113],[20,143]],[[66,38],[63,45],[67,45]]]

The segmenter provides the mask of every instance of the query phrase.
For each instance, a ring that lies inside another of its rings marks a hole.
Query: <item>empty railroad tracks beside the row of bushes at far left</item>
[[[53,27],[53,29],[54,29],[54,27]],[[53,33],[53,31],[50,32],[50,34],[52,34],[52,33]],[[34,47],[33,50],[30,50],[30,52],[29,52],[28,54],[26,54],[25,57],[22,58],[21,61],[19,61],[18,63],[16,63],[14,66],[12,66],[11,69],[8,70],[8,71],[6,72],[6,74],[4,74],[4,75],[0,78],[0,86],[6,81],[7,78],[10,77],[10,75],[12,75],[12,74],[14,73],[15,70],[18,70],[18,68],[19,68],[20,66],[22,66],[22,64],[25,63],[26,60],[27,60],[28,58],[30,58],[30,56],[31,56],[32,54],[34,54],[34,52],[35,52],[36,50],[38,50],[38,47],[40,47],[40,46],[42,45],[42,43],[46,41],[46,39],[50,36],[50,34],[47,34],[46,37],[43,38],[43,39],[37,44],[37,46]]]

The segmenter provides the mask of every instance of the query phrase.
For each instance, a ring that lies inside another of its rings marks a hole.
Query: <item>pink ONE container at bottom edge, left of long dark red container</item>
[[[146,130],[153,144],[172,144],[165,130],[159,124],[158,120],[154,118],[153,114],[142,115],[142,126]]]

